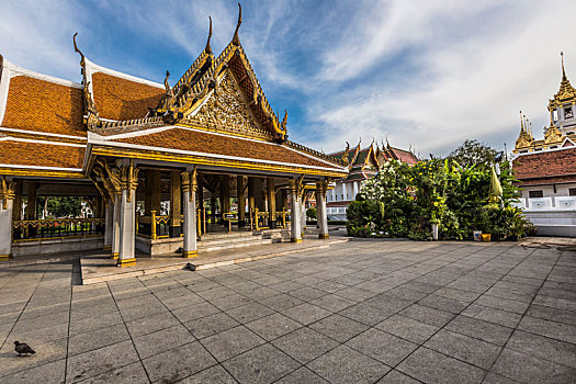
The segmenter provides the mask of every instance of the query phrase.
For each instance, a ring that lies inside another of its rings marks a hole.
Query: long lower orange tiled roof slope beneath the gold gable
[[[248,140],[178,127],[149,135],[124,137],[115,139],[114,142],[313,167],[339,168],[302,155],[279,144]]]

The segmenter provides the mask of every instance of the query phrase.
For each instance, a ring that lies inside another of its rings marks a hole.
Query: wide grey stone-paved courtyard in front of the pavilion
[[[78,273],[0,267],[1,383],[576,382],[576,252],[359,240],[86,286]]]

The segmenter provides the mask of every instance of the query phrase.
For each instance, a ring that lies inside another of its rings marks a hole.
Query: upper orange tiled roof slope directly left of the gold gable
[[[142,118],[166,93],[161,88],[104,72],[92,75],[92,90],[100,117],[110,120]]]

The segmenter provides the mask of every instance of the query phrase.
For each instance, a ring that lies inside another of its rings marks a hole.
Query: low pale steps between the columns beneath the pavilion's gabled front
[[[222,234],[204,234],[197,242],[199,251],[214,251],[251,246],[261,246],[285,241],[286,236],[281,229],[262,231],[231,231]],[[287,236],[290,239],[290,235]]]

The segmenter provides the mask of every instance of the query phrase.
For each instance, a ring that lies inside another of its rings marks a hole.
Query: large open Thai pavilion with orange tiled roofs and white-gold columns
[[[104,246],[118,266],[136,251],[197,253],[204,233],[290,228],[302,241],[302,196],[314,190],[327,238],[326,190],[348,168],[287,139],[238,29],[173,83],[80,56],[80,83],[0,56],[0,258]],[[305,192],[306,191],[306,192]],[[82,196],[93,217],[38,219],[38,196]],[[290,221],[290,223],[289,223]]]

